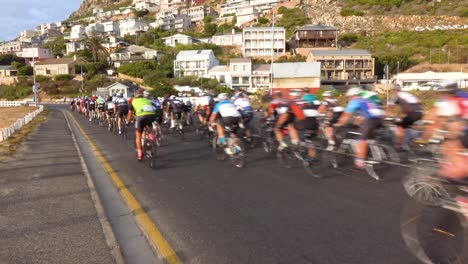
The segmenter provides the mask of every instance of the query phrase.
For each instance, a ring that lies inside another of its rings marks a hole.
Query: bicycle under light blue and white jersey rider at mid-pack
[[[225,127],[226,145],[221,145],[218,135],[212,139],[213,152],[217,160],[225,160],[230,157],[232,164],[237,168],[245,167],[245,149],[242,141],[236,135],[237,126]]]

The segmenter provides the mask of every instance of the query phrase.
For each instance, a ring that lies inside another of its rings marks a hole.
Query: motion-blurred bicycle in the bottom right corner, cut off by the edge
[[[468,208],[457,198],[468,197],[468,181],[437,176],[439,162],[418,159],[403,178],[406,193],[423,206],[404,211],[402,238],[423,263],[467,263]]]

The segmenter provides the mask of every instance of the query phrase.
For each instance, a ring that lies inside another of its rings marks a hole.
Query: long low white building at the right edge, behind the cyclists
[[[468,73],[466,72],[419,72],[399,73],[394,82],[399,84],[403,90],[423,89],[428,84],[444,84],[456,82],[458,88],[468,88]]]

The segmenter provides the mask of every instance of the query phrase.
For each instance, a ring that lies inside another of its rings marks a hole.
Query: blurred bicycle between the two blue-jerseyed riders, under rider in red
[[[284,128],[282,133],[287,136],[287,129]],[[293,164],[299,161],[308,175],[314,178],[322,178],[322,172],[329,166],[329,163],[326,162],[328,159],[328,154],[325,150],[326,141],[311,130],[302,132],[301,138],[298,145],[292,145],[290,140],[286,141],[288,146],[277,151],[277,158],[288,169],[292,168]]]

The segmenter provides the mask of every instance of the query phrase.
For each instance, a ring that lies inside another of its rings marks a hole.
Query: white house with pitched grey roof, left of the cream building
[[[174,61],[174,76],[207,77],[208,70],[219,65],[212,50],[183,50]]]

